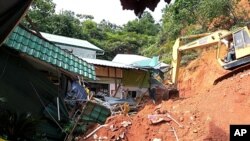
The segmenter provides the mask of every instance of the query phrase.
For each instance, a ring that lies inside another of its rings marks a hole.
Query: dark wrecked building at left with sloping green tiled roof
[[[96,79],[93,65],[21,25],[0,50],[1,136],[62,140],[71,136],[79,120],[85,121],[84,132],[88,124],[104,123],[110,115],[101,105],[86,104],[87,93],[79,81]]]

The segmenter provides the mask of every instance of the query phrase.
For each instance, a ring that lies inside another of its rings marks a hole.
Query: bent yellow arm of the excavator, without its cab
[[[213,33],[204,33],[204,34],[198,34],[198,35],[191,35],[187,37],[181,37],[178,38],[175,41],[175,44],[173,46],[173,52],[172,52],[172,84],[174,84],[174,87],[177,88],[177,79],[179,75],[179,68],[180,68],[180,62],[182,58],[182,51],[186,50],[192,50],[196,48],[205,48],[210,47],[213,45],[216,45],[220,42],[221,36],[230,34],[230,31],[227,30],[219,30]],[[182,45],[182,42],[186,39],[195,39],[198,38],[195,41],[192,41],[190,43]]]

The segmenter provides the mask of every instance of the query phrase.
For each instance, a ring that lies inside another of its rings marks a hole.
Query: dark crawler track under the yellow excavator
[[[238,73],[240,73],[240,72],[243,72],[243,71],[245,71],[245,70],[248,70],[248,69],[250,69],[250,63],[248,63],[248,64],[246,64],[246,65],[243,65],[243,66],[241,66],[241,67],[238,67],[238,68],[236,68],[236,69],[233,69],[231,72],[229,72],[229,73],[227,73],[227,74],[225,74],[225,75],[223,75],[223,76],[217,78],[217,79],[214,81],[214,85],[216,85],[216,84],[218,84],[219,82],[221,82],[221,81],[223,81],[223,80],[225,80],[225,79],[228,79],[228,78],[230,78],[230,77],[232,77],[232,76],[234,76],[234,75],[236,75],[236,74],[238,74]]]

